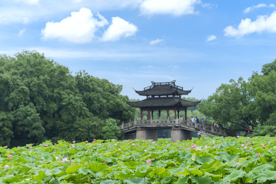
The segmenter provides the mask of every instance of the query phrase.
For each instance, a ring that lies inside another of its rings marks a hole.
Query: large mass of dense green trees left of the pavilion
[[[129,121],[135,109],[121,85],[68,67],[37,52],[0,55],[0,145],[102,139],[105,121]]]

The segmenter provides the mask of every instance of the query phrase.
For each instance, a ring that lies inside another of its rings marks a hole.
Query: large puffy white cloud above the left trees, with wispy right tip
[[[94,38],[94,33],[99,27],[108,24],[107,19],[97,14],[100,21],[93,17],[90,9],[81,8],[79,12],[72,12],[60,22],[47,22],[44,30],[41,30],[43,39],[66,40],[73,43],[87,43]]]

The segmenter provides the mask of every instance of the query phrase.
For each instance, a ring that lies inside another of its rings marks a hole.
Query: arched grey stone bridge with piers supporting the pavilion
[[[180,119],[134,120],[122,123],[119,128],[124,133],[125,139],[132,139],[130,135],[136,132],[136,139],[157,141],[158,129],[171,129],[172,142],[191,140],[192,131],[197,132],[199,136],[226,136],[221,128],[215,128],[213,125]]]

